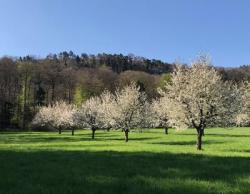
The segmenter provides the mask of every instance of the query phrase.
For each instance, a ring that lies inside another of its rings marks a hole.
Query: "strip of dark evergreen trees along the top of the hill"
[[[27,59],[27,57],[20,58]],[[97,54],[88,55],[81,54],[75,55],[72,51],[62,52],[58,55],[50,54],[43,60],[55,60],[63,62],[65,66],[72,66],[77,68],[89,67],[109,67],[115,73],[121,73],[127,70],[144,71],[150,74],[161,74],[171,72],[173,69],[172,64],[164,63],[161,60],[147,59],[144,57],[138,57],[133,54]]]

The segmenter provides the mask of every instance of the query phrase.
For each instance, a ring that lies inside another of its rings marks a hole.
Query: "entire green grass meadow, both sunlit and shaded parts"
[[[0,133],[1,194],[250,192],[250,128]]]

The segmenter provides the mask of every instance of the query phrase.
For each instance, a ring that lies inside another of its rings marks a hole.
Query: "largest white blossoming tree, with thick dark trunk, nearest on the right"
[[[222,81],[206,56],[199,57],[191,67],[177,66],[171,83],[166,84],[163,96],[180,107],[172,107],[171,114],[196,129],[198,150],[202,149],[206,126],[232,118],[238,93],[231,89],[234,87]]]

